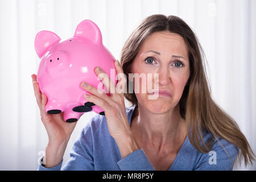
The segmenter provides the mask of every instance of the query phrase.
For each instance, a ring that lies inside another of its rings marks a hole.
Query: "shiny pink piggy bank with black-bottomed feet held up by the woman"
[[[40,31],[35,38],[35,49],[41,59],[37,78],[41,93],[48,99],[48,114],[64,112],[66,122],[76,122],[88,111],[105,114],[100,106],[86,101],[84,94],[90,93],[80,87],[80,83],[85,81],[107,92],[94,73],[97,66],[117,84],[114,57],[102,44],[101,32],[95,23],[82,21],[76,27],[75,35],[61,42],[55,33]]]

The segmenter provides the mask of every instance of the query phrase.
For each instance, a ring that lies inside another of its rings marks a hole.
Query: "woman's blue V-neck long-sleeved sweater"
[[[126,108],[129,124],[134,109],[135,105]],[[210,136],[209,133],[205,133],[204,141],[206,142]],[[230,157],[216,139],[211,151],[203,154],[197,151],[186,137],[169,170],[232,170],[238,148],[224,139],[218,140]],[[117,143],[109,134],[106,117],[100,114],[86,122],[79,139],[72,147],[70,159],[61,168],[62,163],[63,160],[52,168],[39,165],[38,170],[154,170],[142,149],[121,158]]]

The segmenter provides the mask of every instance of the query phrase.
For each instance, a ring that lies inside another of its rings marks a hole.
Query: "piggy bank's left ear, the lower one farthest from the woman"
[[[40,31],[36,34],[35,49],[41,58],[49,47],[60,42],[59,36],[51,31]]]

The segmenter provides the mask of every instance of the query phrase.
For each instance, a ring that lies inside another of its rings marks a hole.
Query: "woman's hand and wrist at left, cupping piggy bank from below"
[[[64,121],[63,112],[60,114],[48,114],[45,111],[47,97],[42,94],[36,79],[36,75],[31,75],[36,102],[40,110],[41,120],[48,134],[48,145],[46,155],[44,156],[44,166],[54,167],[61,162],[64,156],[68,140],[71,137],[76,123],[67,123]]]

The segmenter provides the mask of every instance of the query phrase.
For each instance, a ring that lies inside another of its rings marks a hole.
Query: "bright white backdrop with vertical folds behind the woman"
[[[212,96],[236,119],[255,152],[255,12],[255,0],[0,0],[0,170],[37,169],[47,145],[31,84],[39,65],[36,33],[50,30],[67,39],[81,20],[91,19],[120,59],[127,37],[152,14],[180,16],[196,32],[208,59]],[[77,123],[64,163],[93,114]],[[236,169],[255,170],[256,164]]]

